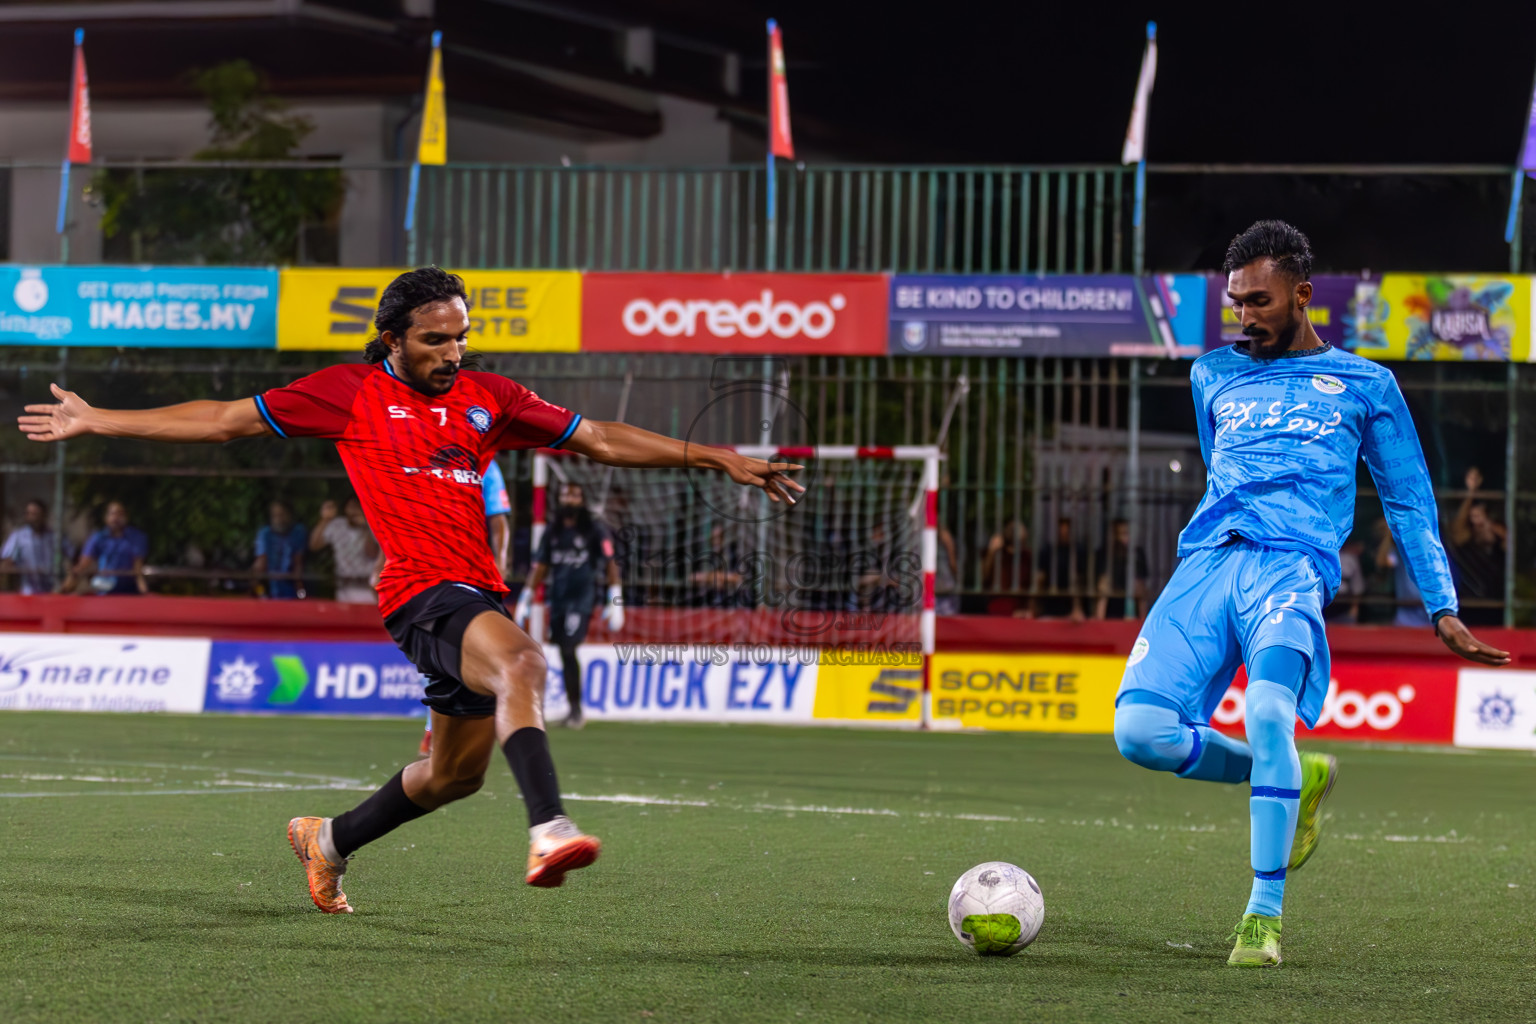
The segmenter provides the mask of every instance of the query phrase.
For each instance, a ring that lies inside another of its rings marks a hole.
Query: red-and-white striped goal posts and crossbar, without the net
[[[928,728],[932,722],[932,691],[929,680],[929,663],[934,652],[934,579],[938,568],[938,464],[943,457],[937,447],[934,445],[891,445],[891,447],[859,447],[859,445],[802,445],[802,447],[780,447],[780,445],[711,445],[719,448],[727,448],[737,451],[743,456],[754,459],[782,461],[782,462],[800,462],[800,461],[817,461],[817,462],[840,462],[840,461],[883,461],[883,462],[917,462],[922,465],[919,473],[919,487],[914,499],[909,502],[909,508],[903,510],[905,516],[911,520],[920,524],[919,528],[919,557],[922,565],[922,603],[919,611],[919,640],[923,659],[923,688],[922,688],[922,723]],[[550,516],[550,477],[551,473],[556,476],[564,476],[559,470],[553,470],[551,464],[554,461],[567,459],[582,459],[570,451],[539,448],[533,456],[533,524],[530,530],[530,551],[536,551],[539,542],[544,537],[544,531],[548,524]],[[630,470],[633,471],[633,470]],[[911,477],[908,477],[911,479]],[[814,481],[813,481],[814,487]],[[588,494],[588,500],[591,496]],[[788,516],[794,516],[794,511],[788,511]],[[909,548],[908,548],[909,550]],[[544,605],[544,594],[535,594],[533,613],[530,620],[530,633],[535,637],[544,636],[544,623],[547,620],[547,609]]]

